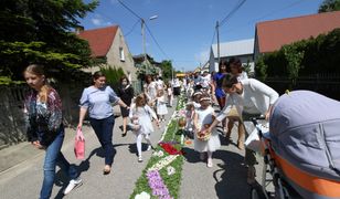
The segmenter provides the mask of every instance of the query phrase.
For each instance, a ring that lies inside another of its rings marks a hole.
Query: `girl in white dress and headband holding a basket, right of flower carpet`
[[[208,134],[208,128],[212,124],[215,117],[215,111],[210,104],[211,97],[208,94],[203,94],[200,98],[201,107],[195,111],[193,125],[195,129],[194,134],[194,150],[201,153],[200,159],[204,159],[204,153],[208,154],[206,166],[212,167],[212,153],[221,147],[219,133],[213,128],[211,130],[210,138],[208,140],[199,139],[199,134]]]

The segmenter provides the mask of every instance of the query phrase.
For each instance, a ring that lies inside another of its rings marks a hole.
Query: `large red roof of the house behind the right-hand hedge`
[[[264,21],[256,24],[254,57],[340,28],[340,11]]]

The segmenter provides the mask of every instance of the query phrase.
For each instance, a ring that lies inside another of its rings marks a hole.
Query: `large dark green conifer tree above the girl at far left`
[[[88,43],[71,30],[98,6],[82,0],[2,0],[0,2],[0,76],[22,78],[29,63],[41,63],[47,73],[65,73],[91,65]]]

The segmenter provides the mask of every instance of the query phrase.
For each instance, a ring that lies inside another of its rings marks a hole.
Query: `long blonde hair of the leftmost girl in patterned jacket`
[[[24,73],[31,73],[40,77],[45,76],[43,65],[39,65],[39,64],[31,64],[26,66],[26,69],[24,70]],[[41,87],[41,91],[39,92],[39,101],[46,103],[50,91],[51,91],[51,86],[46,83],[46,80],[44,80],[44,85]]]

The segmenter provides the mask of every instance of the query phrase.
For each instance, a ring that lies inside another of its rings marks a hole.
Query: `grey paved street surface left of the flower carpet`
[[[169,108],[167,121],[172,115],[174,107]],[[135,182],[146,167],[151,151],[146,151],[147,145],[144,145],[144,161],[138,163],[136,156],[136,136],[128,132],[126,137],[121,137],[119,126],[121,117],[116,118],[114,128],[114,146],[116,155],[114,158],[113,170],[109,175],[103,175],[104,158],[100,145],[89,126],[84,126],[83,133],[86,139],[86,159],[76,160],[73,146],[75,130],[67,128],[62,151],[70,163],[74,163],[81,171],[84,181],[83,186],[63,197],[62,192],[67,180],[56,169],[56,181],[53,187],[51,198],[118,198],[126,199],[132,193]],[[151,142],[156,145],[160,139],[167,123],[161,123],[161,127],[155,126],[155,133],[151,134]],[[144,142],[145,143],[145,142]],[[22,143],[17,146],[4,148],[0,153],[1,172],[0,172],[0,192],[1,198],[38,198],[43,175],[44,153],[36,150],[29,143]]]

